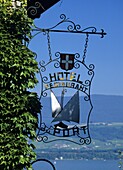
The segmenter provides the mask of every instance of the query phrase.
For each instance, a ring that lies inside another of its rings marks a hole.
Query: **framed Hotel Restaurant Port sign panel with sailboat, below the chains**
[[[90,87],[94,76],[94,65],[86,66],[79,60],[78,53],[57,52],[55,56],[54,60],[40,64],[42,103],[45,100],[42,119],[45,121],[40,124],[37,140],[50,142],[48,135],[51,135],[55,137],[52,140],[56,140],[56,137],[58,140],[59,137],[60,139],[67,137],[65,140],[78,144],[89,144],[91,139],[88,120],[93,107]],[[48,69],[50,72],[47,71]],[[81,73],[82,70],[83,73]],[[57,95],[60,95],[59,99]],[[65,95],[67,95],[66,98]],[[86,102],[90,105],[89,110],[86,108],[85,111],[84,109],[81,111],[81,107],[84,108]],[[46,113],[47,110],[48,113]],[[69,139],[70,137],[71,139]],[[72,139],[72,137],[76,138]]]

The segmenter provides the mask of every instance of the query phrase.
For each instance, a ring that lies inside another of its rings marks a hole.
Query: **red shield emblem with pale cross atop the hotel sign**
[[[74,67],[74,54],[60,54],[60,67],[63,70],[72,70]]]

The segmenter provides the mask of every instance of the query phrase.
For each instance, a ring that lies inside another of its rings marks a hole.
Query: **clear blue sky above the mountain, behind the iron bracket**
[[[96,27],[98,31],[104,29],[107,35],[103,39],[98,35],[89,36],[86,64],[95,65],[91,93],[123,95],[123,0],[62,0],[43,13],[40,19],[36,19],[35,25],[40,28],[52,27],[60,21],[61,14],[80,24],[82,29],[89,26]],[[52,44],[52,50],[60,47],[63,50],[68,42],[61,37],[66,38],[66,35],[53,36],[54,39],[59,36],[60,42]],[[73,45],[77,50],[83,51],[84,39],[84,35],[77,39],[78,43],[74,42],[74,38],[71,39],[70,47]],[[46,39],[42,35],[38,35],[30,43],[31,50],[38,54],[38,61],[46,58],[46,45]],[[36,91],[38,88],[39,86]]]

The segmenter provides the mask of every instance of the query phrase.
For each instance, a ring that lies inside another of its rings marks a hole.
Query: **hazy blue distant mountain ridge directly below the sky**
[[[65,100],[68,99],[70,99],[70,97],[65,98]],[[123,122],[123,96],[92,95],[91,100],[93,110],[90,122]],[[50,103],[50,98],[46,97],[42,100],[42,105],[47,106],[48,102]],[[47,106],[45,108],[46,113],[51,112],[50,107]]]

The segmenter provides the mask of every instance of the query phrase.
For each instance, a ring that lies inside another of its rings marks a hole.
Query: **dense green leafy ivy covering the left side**
[[[35,138],[41,109],[37,94],[28,91],[38,82],[35,54],[24,45],[33,23],[24,1],[20,7],[0,2],[0,169],[30,170],[36,155],[28,139]]]

